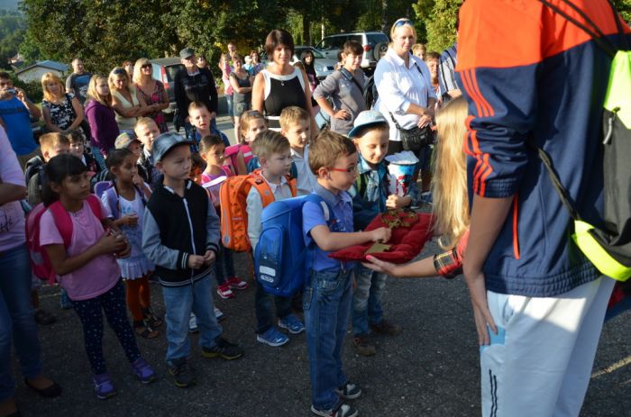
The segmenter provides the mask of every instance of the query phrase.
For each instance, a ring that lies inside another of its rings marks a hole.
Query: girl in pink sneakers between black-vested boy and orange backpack
[[[199,152],[206,161],[206,169],[202,174],[202,186],[208,190],[213,204],[219,207],[219,187],[226,177],[232,176],[229,168],[224,166],[224,142],[216,135],[205,136],[199,142]],[[234,275],[233,251],[225,249],[219,242],[219,252],[215,260],[215,276],[217,278],[217,294],[224,298],[233,298],[234,290],[244,290],[248,284]]]

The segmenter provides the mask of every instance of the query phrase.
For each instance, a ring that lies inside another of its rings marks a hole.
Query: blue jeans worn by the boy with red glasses
[[[342,346],[351,313],[351,275],[352,270],[311,271],[303,293],[312,403],[321,410],[340,402],[335,390],[347,382]]]

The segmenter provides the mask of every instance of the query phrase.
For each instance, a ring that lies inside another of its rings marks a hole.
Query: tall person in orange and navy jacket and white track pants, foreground
[[[572,3],[605,35],[617,32],[608,0]],[[482,414],[577,416],[614,281],[573,242],[572,219],[531,146],[550,155],[583,219],[601,225],[611,59],[540,2],[467,0],[460,18],[472,203],[463,271],[480,341]]]

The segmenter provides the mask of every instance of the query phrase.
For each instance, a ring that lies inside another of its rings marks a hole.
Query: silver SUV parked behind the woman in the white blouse
[[[361,68],[369,72],[377,67],[377,61],[386,53],[389,44],[388,36],[384,32],[357,31],[325,36],[320,43],[315,45],[315,49],[322,52],[326,58],[337,61],[338,54],[346,41],[361,43],[363,47]]]

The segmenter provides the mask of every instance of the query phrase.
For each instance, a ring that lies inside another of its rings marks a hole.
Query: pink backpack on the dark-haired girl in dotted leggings
[[[98,197],[96,195],[88,195],[87,204],[92,209],[92,213],[98,219],[101,219],[101,202]],[[48,207],[44,206],[43,203],[37,204],[26,216],[26,246],[31,253],[32,273],[42,280],[47,280],[49,284],[53,284],[57,275],[50,264],[46,250],[40,245],[40,220],[41,215],[46,210],[50,210],[66,248],[70,246],[70,240],[72,239],[72,220],[70,219],[70,214],[59,201],[50,204]]]

